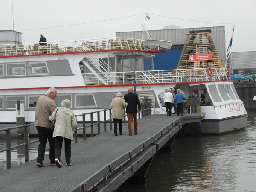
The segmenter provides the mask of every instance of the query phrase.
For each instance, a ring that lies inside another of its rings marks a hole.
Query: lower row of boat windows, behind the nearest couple
[[[15,109],[17,100],[24,104],[25,109],[33,109],[36,107],[37,99],[40,96],[0,96],[0,109]],[[58,97],[54,99],[57,107],[61,107],[61,102],[64,99],[71,101],[71,108],[97,107],[93,94],[58,94]]]

